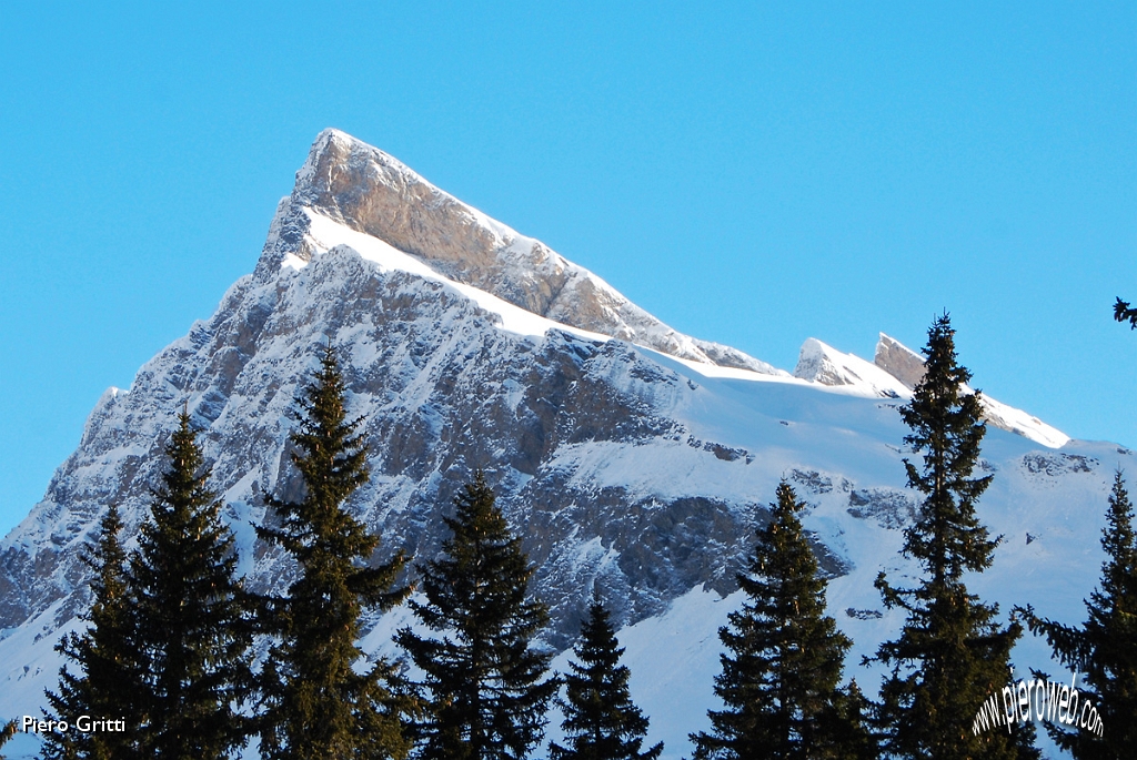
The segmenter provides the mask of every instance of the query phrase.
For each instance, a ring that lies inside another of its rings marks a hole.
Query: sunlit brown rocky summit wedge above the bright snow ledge
[[[404,164],[338,130],[325,130],[281,201],[256,276],[325,252],[310,215],[375,237],[455,282],[572,327],[680,359],[785,375],[719,343],[683,335],[639,308],[588,269],[538,240],[439,190]],[[293,258],[294,257],[294,258]]]

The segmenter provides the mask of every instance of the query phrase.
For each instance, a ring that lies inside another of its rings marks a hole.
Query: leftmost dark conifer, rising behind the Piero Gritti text
[[[141,676],[135,657],[133,607],[124,575],[126,552],[118,542],[122,526],[118,510],[111,506],[102,518],[98,544],[83,557],[96,574],[91,582],[91,610],[84,617],[91,625],[82,634],[64,636],[56,645],[56,651],[74,662],[78,673],[66,666],[60,668],[59,691],[47,692],[51,709],[47,717],[68,723],[82,715],[124,720],[128,730],[49,732],[43,736],[43,757],[48,760],[140,757],[134,718]]]

